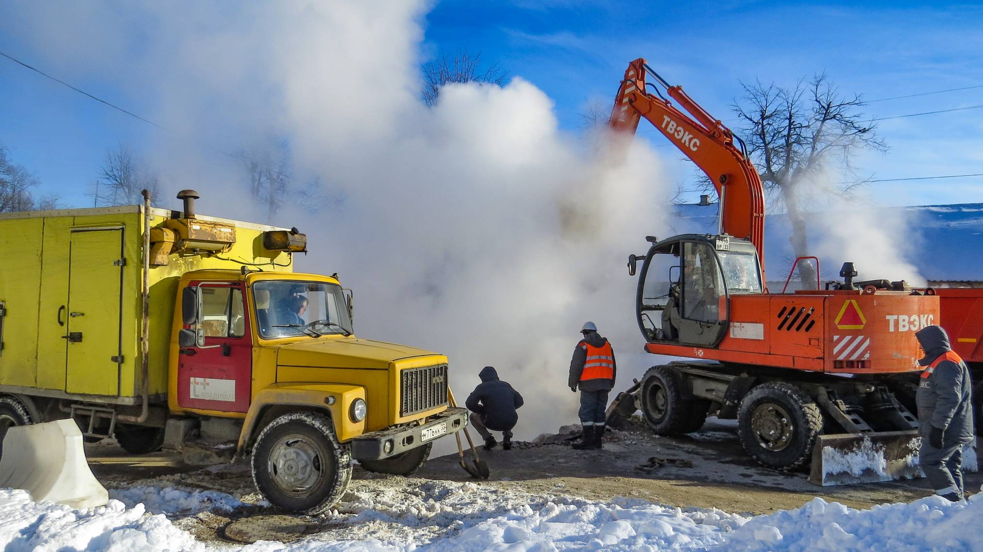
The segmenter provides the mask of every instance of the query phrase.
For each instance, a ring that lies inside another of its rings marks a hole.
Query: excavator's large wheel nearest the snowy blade
[[[768,468],[789,471],[807,465],[822,430],[819,406],[789,383],[754,387],[737,411],[737,434],[744,450]]]

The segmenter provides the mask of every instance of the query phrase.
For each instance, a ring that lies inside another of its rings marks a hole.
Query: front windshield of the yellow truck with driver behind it
[[[341,286],[277,280],[253,285],[256,319],[263,338],[352,333]]]

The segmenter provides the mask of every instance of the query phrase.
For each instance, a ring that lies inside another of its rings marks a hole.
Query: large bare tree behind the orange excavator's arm
[[[795,256],[809,254],[805,213],[820,193],[849,193],[855,184],[836,187],[824,182],[828,171],[856,177],[852,155],[861,148],[885,151],[875,126],[860,108],[858,95],[840,94],[825,74],[794,87],[774,83],[741,83],[744,95],[731,106],[742,122],[739,135],[758,168],[765,191],[781,197],[791,223],[789,242]],[[815,282],[811,265],[799,267],[803,283]]]

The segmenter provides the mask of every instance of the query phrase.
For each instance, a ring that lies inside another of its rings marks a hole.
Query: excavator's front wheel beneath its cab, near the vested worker
[[[694,428],[699,420],[700,426],[706,420],[707,411],[703,418],[693,417],[693,401],[683,399],[679,390],[679,373],[668,366],[653,366],[645,373],[642,382],[642,415],[649,427],[657,435],[677,435],[696,431]],[[709,410],[710,405],[707,405]]]

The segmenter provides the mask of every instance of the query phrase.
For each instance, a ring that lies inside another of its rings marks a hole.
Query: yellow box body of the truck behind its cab
[[[151,227],[178,217],[150,209]],[[233,225],[235,243],[221,254],[172,253],[149,268],[149,395],[157,401],[167,392],[182,274],[244,262],[292,270],[289,254],[262,248],[262,232],[281,229],[198,220]],[[0,214],[0,392],[140,403],[143,225],[141,205]]]

